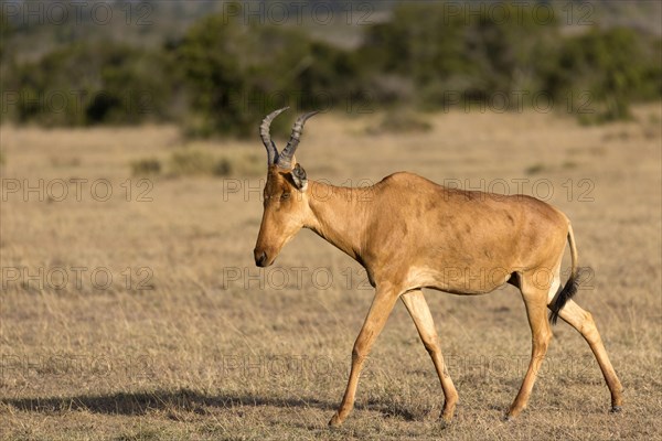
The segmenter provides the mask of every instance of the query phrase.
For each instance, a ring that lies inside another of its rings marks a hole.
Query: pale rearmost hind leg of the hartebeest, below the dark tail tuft
[[[576,329],[590,346],[590,349],[600,365],[600,370],[602,370],[602,376],[605,377],[605,381],[609,387],[609,391],[611,392],[611,411],[620,411],[623,401],[623,388],[620,380],[616,376],[616,372],[611,366],[611,362],[609,362],[607,351],[602,344],[602,338],[600,338],[600,333],[596,327],[592,316],[588,311],[583,310],[572,300],[568,300],[565,306],[563,306],[563,309],[559,311],[558,315],[570,326]]]

